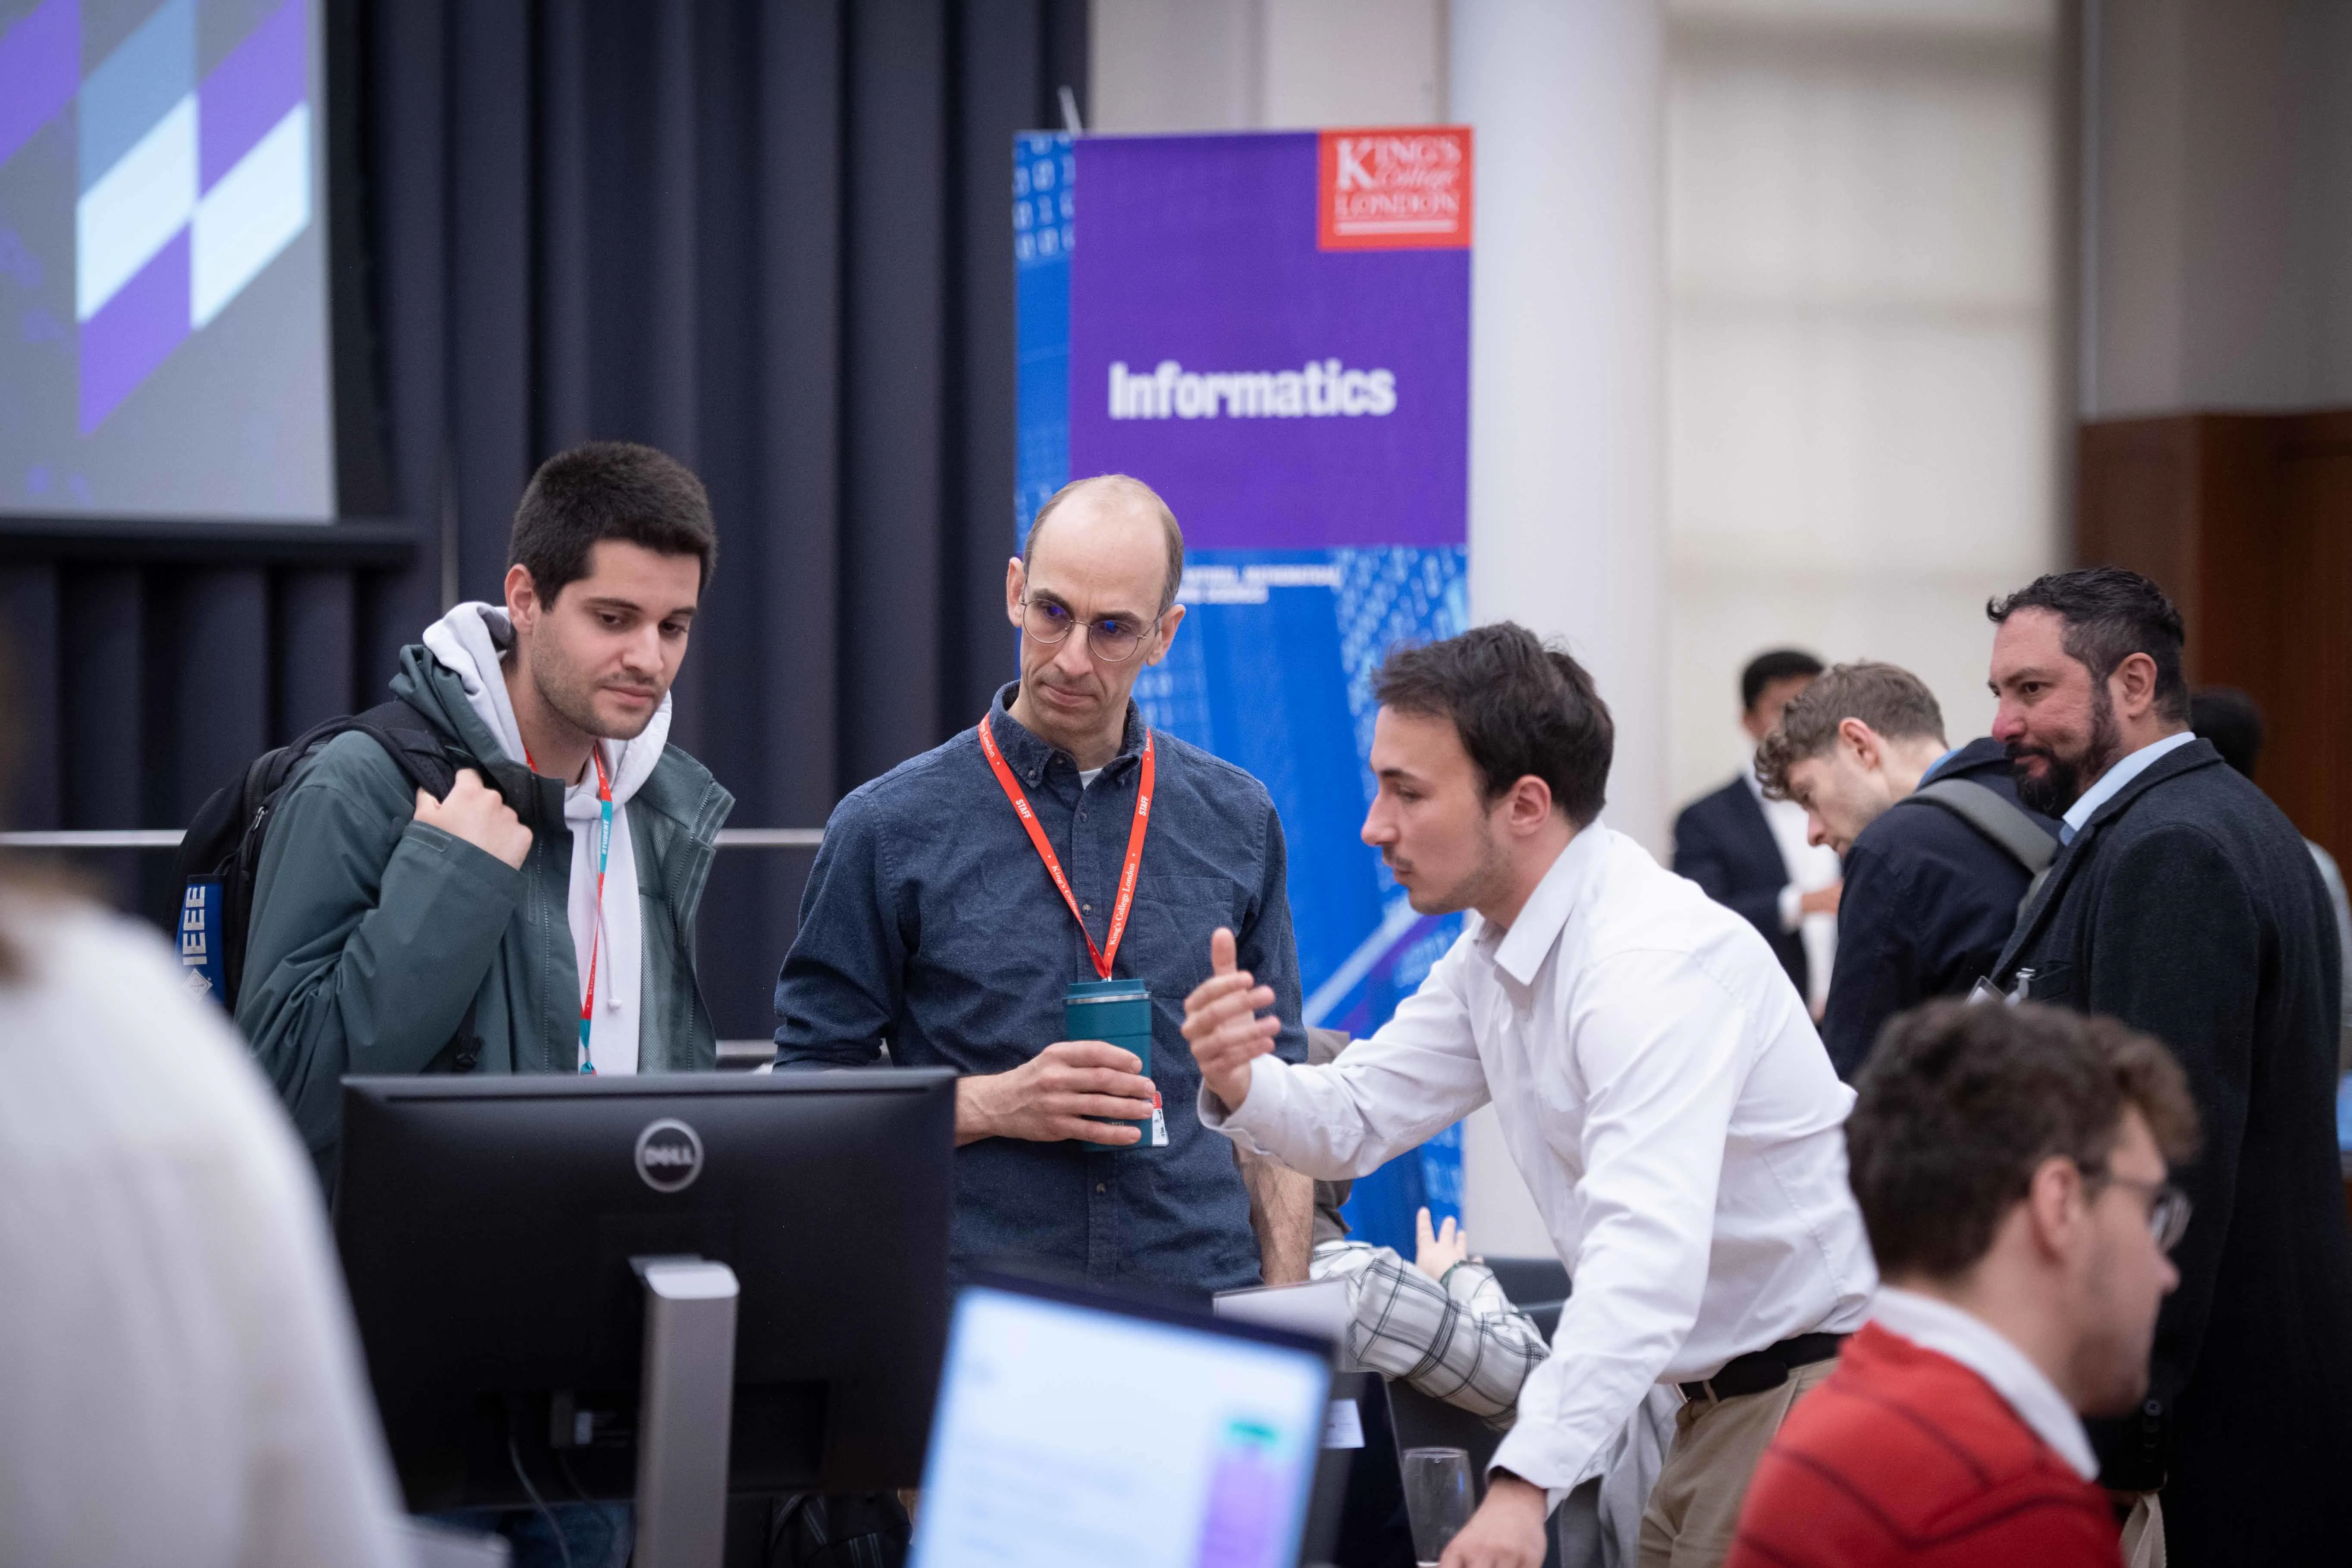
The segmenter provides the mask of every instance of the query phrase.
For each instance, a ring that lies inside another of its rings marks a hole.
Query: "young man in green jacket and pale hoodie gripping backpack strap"
[[[506,607],[459,604],[393,677],[461,762],[449,795],[412,790],[365,733],[294,773],[238,1025],[325,1180],[348,1072],[717,1065],[694,912],[734,797],[668,745],[715,557],[710,501],[673,458],[548,458],[515,510]]]

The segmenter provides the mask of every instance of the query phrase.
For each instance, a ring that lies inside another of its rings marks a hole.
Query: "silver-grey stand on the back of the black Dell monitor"
[[[630,1258],[644,1281],[637,1568],[720,1568],[734,1418],[736,1276],[708,1258]]]

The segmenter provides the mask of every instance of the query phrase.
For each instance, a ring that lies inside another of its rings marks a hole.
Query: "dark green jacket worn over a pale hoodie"
[[[506,762],[456,672],[421,644],[393,693],[480,762],[532,830],[515,870],[416,820],[400,766],[365,733],[310,757],[278,802],[254,877],[238,1027],[320,1175],[341,1138],[343,1074],[454,1072],[475,1004],[475,1072],[579,1072],[581,980],[567,898],[564,788]],[[644,917],[644,1072],[717,1067],[694,973],[694,912],[734,797],[675,745],[623,806]]]

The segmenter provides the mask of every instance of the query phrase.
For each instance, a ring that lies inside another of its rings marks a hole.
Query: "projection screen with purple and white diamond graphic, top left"
[[[315,5],[0,0],[0,510],[332,515]]]

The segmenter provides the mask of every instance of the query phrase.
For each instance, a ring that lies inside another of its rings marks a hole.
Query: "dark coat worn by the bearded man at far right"
[[[2143,1413],[2091,1422],[2110,1486],[2164,1481],[2176,1568],[2340,1561],[2352,1227],[2336,1154],[2340,954],[2303,837],[2204,741],[2051,865],[1997,983],[2171,1046],[2204,1121],[2197,1215]],[[2328,1544],[2333,1542],[2333,1544]]]

